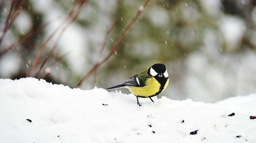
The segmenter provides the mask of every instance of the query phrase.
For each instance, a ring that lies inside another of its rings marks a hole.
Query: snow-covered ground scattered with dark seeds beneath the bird
[[[0,142],[256,142],[256,94],[154,100],[139,107],[132,94],[0,79]]]

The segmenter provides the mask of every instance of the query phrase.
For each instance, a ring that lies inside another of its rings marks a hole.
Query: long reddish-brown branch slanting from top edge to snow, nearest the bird
[[[81,84],[83,83],[83,81],[87,80],[94,73],[94,71],[96,71],[98,69],[99,66],[101,66],[104,62],[106,62],[110,58],[110,56],[113,55],[116,52],[116,50],[118,49],[120,43],[123,41],[124,37],[126,36],[127,32],[129,32],[131,30],[132,25],[138,19],[139,15],[142,13],[142,11],[145,9],[145,7],[149,3],[150,3],[150,0],[147,0],[144,3],[143,6],[139,7],[139,10],[137,11],[135,16],[133,17],[132,21],[125,28],[125,30],[123,31],[122,35],[119,37],[119,39],[117,40],[115,45],[112,47],[111,51],[104,57],[104,59],[102,59],[101,61],[97,61],[95,63],[95,65],[92,67],[92,69],[86,75],[84,75],[83,78],[76,84],[76,86],[75,86],[76,88],[79,88],[81,86]]]

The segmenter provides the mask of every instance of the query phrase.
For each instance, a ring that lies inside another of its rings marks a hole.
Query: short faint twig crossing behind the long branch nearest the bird
[[[109,34],[110,34],[110,32],[113,30],[113,28],[115,27],[116,23],[117,23],[117,19],[115,19],[115,20],[112,22],[111,26],[108,28],[108,30],[106,30],[106,34],[105,34],[103,43],[102,43],[102,45],[101,45],[101,47],[100,47],[97,60],[100,60],[101,54],[102,54],[102,52],[103,52],[103,50],[104,50],[104,48],[105,48],[106,41],[108,40]],[[94,85],[95,82],[96,82],[96,72],[97,72],[97,69],[96,69],[96,70],[94,71],[94,73],[93,73],[93,81],[92,81],[92,83],[91,83],[91,88],[93,87],[93,85]]]

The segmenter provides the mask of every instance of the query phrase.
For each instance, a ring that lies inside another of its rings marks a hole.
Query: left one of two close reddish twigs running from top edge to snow
[[[29,69],[29,71],[26,73],[26,77],[31,76],[31,73],[34,71],[35,67],[40,63],[41,61],[41,56],[42,53],[44,53],[45,48],[48,44],[48,42],[53,38],[53,36],[59,31],[59,29],[69,21],[70,17],[72,17],[72,15],[74,15],[74,13],[79,10],[81,8],[81,6],[83,6],[84,4],[87,3],[87,0],[78,0],[75,4],[75,6],[72,8],[72,10],[70,11],[69,15],[58,25],[58,27],[53,31],[53,33],[47,38],[47,40],[42,44],[42,46],[40,47],[36,58],[33,62],[33,65],[31,66],[31,68]]]

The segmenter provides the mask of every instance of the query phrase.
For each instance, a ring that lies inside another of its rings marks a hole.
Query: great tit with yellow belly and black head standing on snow
[[[134,75],[129,80],[122,84],[108,88],[106,90],[114,90],[119,88],[127,88],[137,98],[139,106],[139,99],[150,98],[162,93],[169,83],[168,72],[164,64],[154,64],[149,69]]]

